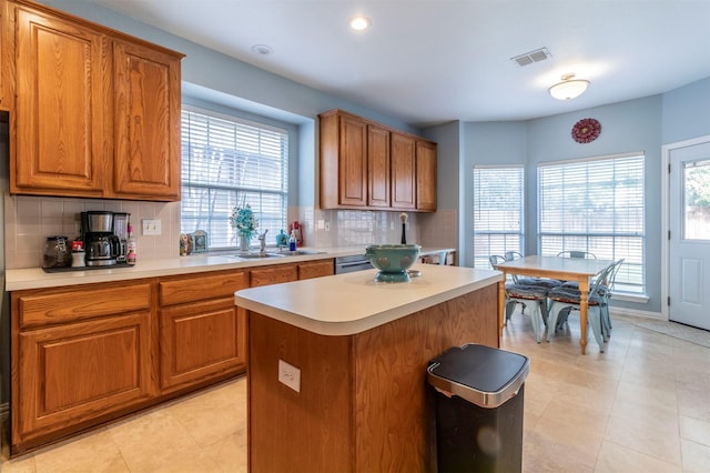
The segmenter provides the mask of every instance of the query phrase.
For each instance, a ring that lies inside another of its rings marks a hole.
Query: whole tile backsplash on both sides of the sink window
[[[74,239],[80,232],[80,213],[110,210],[131,214],[138,240],[139,261],[180,258],[180,202],[92,200],[33,195],[4,195],[6,268],[38,268],[48,236]],[[407,243],[456,248],[457,212],[407,213]],[[400,212],[320,210],[290,208],[291,220],[303,224],[306,246],[356,246],[371,243],[399,243]],[[293,215],[293,218],[292,218]],[[161,220],[162,234],[145,236],[144,219]],[[326,228],[328,229],[326,231]]]

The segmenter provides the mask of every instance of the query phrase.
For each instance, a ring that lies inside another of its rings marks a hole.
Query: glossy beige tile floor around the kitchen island
[[[578,319],[536,344],[516,313],[503,348],[530,359],[525,472],[710,472],[710,349],[616,318],[579,354]],[[702,332],[704,333],[704,332]],[[708,334],[710,336],[710,333]],[[9,461],[10,472],[246,471],[245,380]]]

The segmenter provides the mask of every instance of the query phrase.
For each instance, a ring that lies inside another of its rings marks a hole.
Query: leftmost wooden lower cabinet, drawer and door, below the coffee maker
[[[103,294],[125,294],[131,309],[113,304],[97,312],[102,301],[89,286],[12,293],[13,451],[110,420],[156,395],[150,285],[108,285]],[[22,325],[23,306],[36,318],[44,306],[44,326]],[[88,313],[93,319],[84,320]]]

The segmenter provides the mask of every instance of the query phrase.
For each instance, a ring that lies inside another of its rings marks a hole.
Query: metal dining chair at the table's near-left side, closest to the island
[[[497,254],[491,254],[488,256],[488,261],[490,265],[495,268],[495,265],[500,264],[505,261],[508,261],[505,256],[500,256]],[[535,340],[540,343],[544,339],[545,333],[547,332],[547,291],[549,290],[544,284],[525,284],[523,282],[517,281],[526,281],[526,280],[537,280],[537,278],[517,278],[513,274],[513,282],[506,283],[506,300],[505,300],[505,320],[504,324],[507,324],[510,318],[513,316],[513,312],[515,311],[515,306],[517,304],[523,305],[521,313],[525,315],[525,309],[528,304],[532,305],[534,310],[530,314],[530,320],[532,322],[532,330],[535,332]]]

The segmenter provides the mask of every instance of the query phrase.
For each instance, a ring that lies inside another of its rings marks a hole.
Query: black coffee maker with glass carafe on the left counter
[[[110,266],[118,263],[121,243],[113,233],[113,212],[81,212],[81,229],[88,266]]]

